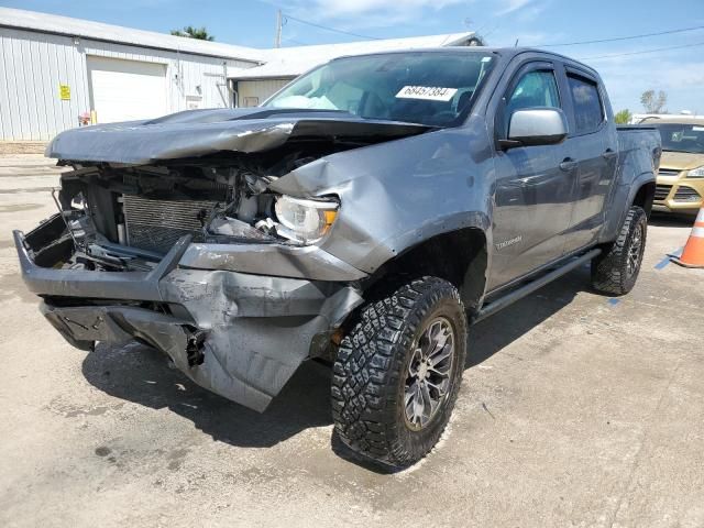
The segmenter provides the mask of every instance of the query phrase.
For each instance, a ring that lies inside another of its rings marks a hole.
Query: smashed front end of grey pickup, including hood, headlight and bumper
[[[318,244],[344,207],[334,188],[300,189],[290,174],[427,130],[252,109],[65,132],[47,147],[73,167],[58,212],[14,232],[23,278],[73,345],[136,339],[264,410],[327,353],[367,277]]]

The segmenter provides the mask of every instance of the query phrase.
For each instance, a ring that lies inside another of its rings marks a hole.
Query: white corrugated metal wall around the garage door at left
[[[0,140],[50,140],[77,127],[78,116],[91,110],[88,56],[163,64],[167,112],[188,108],[187,98],[200,108],[230,106],[223,63],[255,64],[0,28]],[[69,87],[68,100],[62,99],[61,85]]]

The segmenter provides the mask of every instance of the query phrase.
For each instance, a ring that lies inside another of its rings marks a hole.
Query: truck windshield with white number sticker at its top
[[[469,113],[494,62],[492,55],[469,51],[339,58],[296,79],[264,106],[449,127]]]

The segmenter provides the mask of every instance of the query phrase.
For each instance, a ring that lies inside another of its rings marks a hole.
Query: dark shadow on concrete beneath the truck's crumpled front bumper
[[[111,396],[168,408],[213,440],[232,446],[272,447],[304,429],[332,424],[330,370],[315,362],[302,364],[262,414],[199,387],[170,369],[164,354],[136,342],[99,343],[84,360],[82,373]]]

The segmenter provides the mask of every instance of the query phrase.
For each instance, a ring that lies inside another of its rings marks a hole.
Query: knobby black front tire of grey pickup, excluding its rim
[[[454,332],[450,385],[427,426],[413,430],[404,406],[411,348],[438,317]],[[333,366],[332,417],[340,440],[365,458],[393,468],[422,459],[440,439],[454,407],[466,336],[466,316],[457,288],[437,277],[413,280],[364,306],[359,322],[343,338]]]

